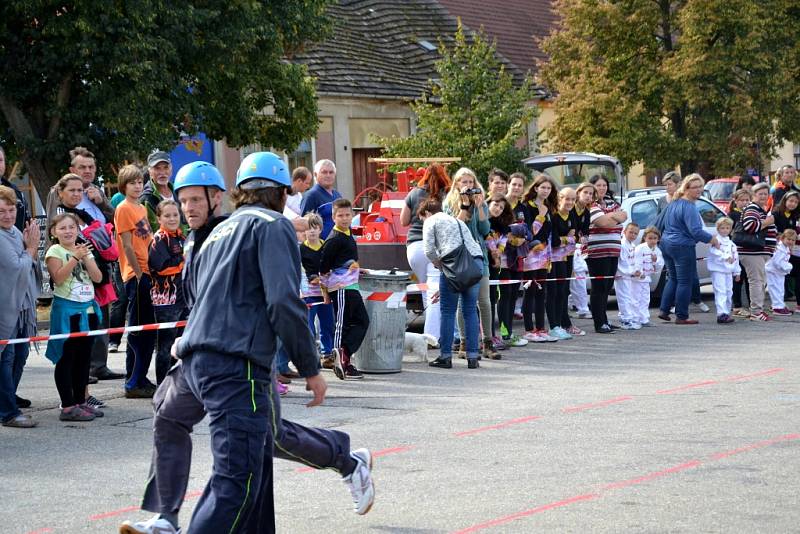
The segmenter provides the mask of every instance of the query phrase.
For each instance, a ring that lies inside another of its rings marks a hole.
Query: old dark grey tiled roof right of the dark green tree
[[[456,17],[435,0],[340,0],[328,14],[332,36],[292,58],[308,66],[320,95],[417,98],[439,59],[420,42],[436,46],[457,30]],[[521,81],[523,71],[499,56]]]

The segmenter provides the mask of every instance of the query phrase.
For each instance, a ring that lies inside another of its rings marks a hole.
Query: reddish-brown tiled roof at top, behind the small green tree
[[[553,0],[439,0],[450,14],[472,30],[497,39],[497,51],[522,71],[536,72],[536,60],[546,59],[536,38],[547,37],[556,25]]]

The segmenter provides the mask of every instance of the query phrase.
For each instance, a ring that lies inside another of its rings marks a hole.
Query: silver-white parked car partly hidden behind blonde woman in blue
[[[651,226],[656,220],[656,216],[658,215],[658,200],[666,194],[667,193],[663,187],[636,189],[628,192],[628,194],[622,200],[622,209],[628,214],[628,219],[625,221],[625,224],[633,221],[639,225],[639,228],[641,228],[641,231],[639,232],[640,242],[644,229],[648,226]],[[700,218],[703,220],[706,231],[711,235],[716,235],[717,220],[725,217],[725,212],[721,210],[715,203],[703,197],[699,198],[697,202],[695,202],[695,207],[700,213]],[[709,245],[707,243],[698,243],[696,246],[698,258],[697,274],[700,277],[700,285],[711,283],[711,276],[708,273],[706,262],[704,261],[704,258],[708,256],[708,247]],[[661,276],[658,277],[658,279],[654,279],[650,286],[651,292],[656,298],[661,296],[661,290],[663,288],[664,272],[661,273]]]

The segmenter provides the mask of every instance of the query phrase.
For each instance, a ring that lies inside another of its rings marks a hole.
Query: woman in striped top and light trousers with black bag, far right
[[[764,246],[739,245],[739,261],[747,272],[750,287],[750,319],[768,321],[764,313],[764,285],[767,261],[775,251],[778,231],[775,217],[766,210],[769,201],[769,184],[760,182],[753,186],[753,201],[742,212],[742,231],[764,237]],[[734,241],[736,238],[734,237]]]

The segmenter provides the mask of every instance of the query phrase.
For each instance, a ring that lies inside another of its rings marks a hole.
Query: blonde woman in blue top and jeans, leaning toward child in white
[[[702,176],[690,174],[678,186],[672,202],[666,208],[661,251],[668,274],[658,315],[662,321],[672,320],[670,308],[674,304],[675,324],[697,324],[696,320],[689,319],[692,282],[697,278],[695,245],[703,242],[719,247],[717,237],[705,231],[703,220],[694,205],[703,193],[703,184],[705,180]]]

